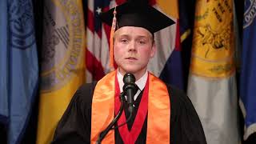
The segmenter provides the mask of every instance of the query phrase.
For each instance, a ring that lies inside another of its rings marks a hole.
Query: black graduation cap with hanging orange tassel
[[[174,24],[165,14],[149,6],[145,0],[130,0],[100,14],[102,22],[111,26],[110,32],[110,67],[113,67],[114,31],[123,26],[136,26],[149,30],[152,35],[158,30]]]

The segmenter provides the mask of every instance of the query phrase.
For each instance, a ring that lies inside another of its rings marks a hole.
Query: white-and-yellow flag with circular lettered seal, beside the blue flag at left
[[[46,0],[43,18],[38,144],[52,141],[59,119],[85,81],[82,0]]]

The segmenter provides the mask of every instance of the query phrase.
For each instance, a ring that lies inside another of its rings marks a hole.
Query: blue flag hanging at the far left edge
[[[1,106],[8,143],[20,143],[38,90],[38,54],[30,0],[1,1]]]

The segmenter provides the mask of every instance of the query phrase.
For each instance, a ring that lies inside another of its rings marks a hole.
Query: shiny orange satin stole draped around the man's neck
[[[102,78],[94,89],[91,113],[91,143],[114,118],[114,82],[116,70]],[[149,74],[149,102],[146,143],[170,143],[170,98],[166,84]],[[102,143],[114,143],[110,130]]]

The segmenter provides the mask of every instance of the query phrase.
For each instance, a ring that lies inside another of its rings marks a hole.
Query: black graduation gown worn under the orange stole
[[[52,143],[79,144],[90,143],[90,124],[91,124],[91,103],[96,82],[81,86],[74,97],[62,119],[58,122]],[[171,144],[206,144],[206,138],[202,130],[198,114],[190,99],[181,90],[173,86],[167,86],[170,94],[170,143]],[[131,128],[135,115],[138,110],[142,93],[135,101],[135,110],[132,120],[127,124]],[[127,106],[125,105],[126,118],[128,116]],[[146,143],[145,120],[142,131],[136,143]],[[114,132],[115,143],[123,143],[118,129]]]

